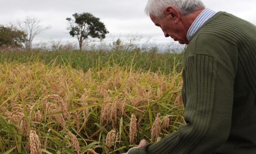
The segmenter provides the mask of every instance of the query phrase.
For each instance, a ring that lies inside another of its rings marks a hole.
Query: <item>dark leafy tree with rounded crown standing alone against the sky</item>
[[[104,23],[100,21],[100,18],[96,18],[90,13],[75,13],[72,15],[75,19],[66,18],[69,21],[68,30],[72,37],[78,39],[79,48],[82,50],[83,42],[88,37],[104,39],[105,34],[109,33],[105,28]],[[88,42],[87,42],[88,43]]]

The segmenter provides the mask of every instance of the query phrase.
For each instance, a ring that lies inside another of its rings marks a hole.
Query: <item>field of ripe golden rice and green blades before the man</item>
[[[0,56],[1,152],[119,154],[184,122],[182,55],[21,53]]]

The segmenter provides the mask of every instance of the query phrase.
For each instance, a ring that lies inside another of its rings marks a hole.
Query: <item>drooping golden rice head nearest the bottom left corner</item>
[[[30,142],[30,153],[31,154],[42,154],[41,143],[39,140],[36,131],[31,130],[29,134],[29,142]]]

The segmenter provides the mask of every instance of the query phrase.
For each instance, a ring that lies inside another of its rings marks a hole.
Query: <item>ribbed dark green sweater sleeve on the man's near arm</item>
[[[185,60],[183,101],[187,124],[158,143],[132,149],[128,154],[213,154],[228,139],[234,72],[228,62],[198,54],[205,53],[202,50],[223,52],[221,46],[216,47],[211,41],[202,38],[195,43],[199,47],[194,47],[197,53]]]

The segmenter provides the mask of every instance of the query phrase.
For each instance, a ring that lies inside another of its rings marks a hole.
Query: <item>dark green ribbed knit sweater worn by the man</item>
[[[184,55],[186,125],[128,154],[256,154],[256,26],[218,12]]]

